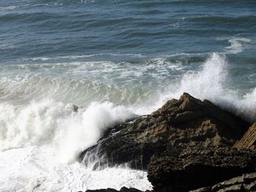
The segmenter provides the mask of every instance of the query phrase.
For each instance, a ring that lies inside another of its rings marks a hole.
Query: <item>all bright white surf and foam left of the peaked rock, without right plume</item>
[[[127,108],[109,102],[94,102],[78,112],[53,100],[21,108],[0,104],[0,191],[150,189],[146,172],[121,167],[92,171],[75,161],[105,128],[132,117]]]

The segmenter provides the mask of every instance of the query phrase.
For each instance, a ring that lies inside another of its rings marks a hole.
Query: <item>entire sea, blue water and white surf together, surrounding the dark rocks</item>
[[[256,1],[1,0],[0,191],[151,189],[77,157],[183,92],[256,121]]]

